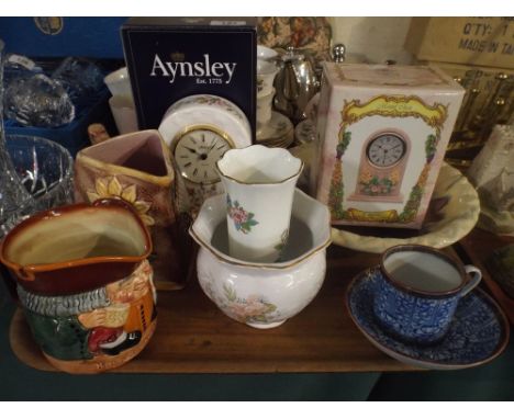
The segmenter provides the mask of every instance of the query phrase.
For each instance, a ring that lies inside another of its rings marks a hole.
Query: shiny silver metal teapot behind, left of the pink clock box
[[[320,90],[312,54],[292,46],[278,60],[279,72],[275,79],[275,109],[287,115],[295,125],[305,118],[304,109]]]

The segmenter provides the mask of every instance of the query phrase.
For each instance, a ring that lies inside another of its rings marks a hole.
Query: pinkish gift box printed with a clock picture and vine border
[[[325,63],[312,181],[333,224],[420,228],[463,93],[433,67]]]

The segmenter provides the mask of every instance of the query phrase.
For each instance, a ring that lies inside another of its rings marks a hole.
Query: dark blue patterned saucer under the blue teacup
[[[489,362],[505,349],[510,332],[507,319],[498,304],[479,288],[460,301],[448,333],[438,343],[421,347],[387,335],[372,309],[378,275],[378,267],[358,274],[348,287],[346,304],[360,331],[388,355],[423,369],[458,370]]]

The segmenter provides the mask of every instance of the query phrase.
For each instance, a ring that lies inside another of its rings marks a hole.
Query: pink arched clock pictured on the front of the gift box
[[[348,201],[403,202],[400,191],[410,154],[411,140],[401,129],[371,134],[362,144],[355,192]]]

